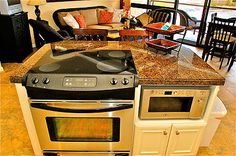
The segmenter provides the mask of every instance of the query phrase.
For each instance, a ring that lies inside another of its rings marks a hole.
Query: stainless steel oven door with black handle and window
[[[130,151],[132,101],[32,102],[42,150]]]

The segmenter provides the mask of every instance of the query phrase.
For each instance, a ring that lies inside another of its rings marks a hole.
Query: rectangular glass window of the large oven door
[[[46,117],[51,141],[118,142],[119,118]]]

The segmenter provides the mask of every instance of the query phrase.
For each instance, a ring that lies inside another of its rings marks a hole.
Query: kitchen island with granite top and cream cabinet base
[[[136,87],[135,91],[133,155],[175,154],[181,156],[196,154],[219,89],[218,86],[224,84],[224,78],[200,57],[186,47],[182,47],[179,55],[175,52],[172,52],[172,55],[163,55],[147,48],[145,44],[137,44],[136,42],[62,41],[43,46],[23,63],[10,78],[12,83],[16,83],[24,119],[36,155],[41,155],[42,150],[31,116],[27,92],[21,83],[27,71],[43,55],[51,52],[52,47],[56,46],[67,50],[78,49],[78,51],[131,50],[139,77],[139,86]],[[77,54],[74,53],[74,55]],[[73,65],[70,66],[73,67]],[[191,87],[197,89],[209,87],[210,94],[204,115],[199,119],[141,120],[139,118],[141,86],[154,88]],[[157,142],[156,140],[160,141]]]

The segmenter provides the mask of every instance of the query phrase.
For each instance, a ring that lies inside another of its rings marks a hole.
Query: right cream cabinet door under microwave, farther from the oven
[[[166,155],[196,155],[205,126],[205,123],[173,124]]]

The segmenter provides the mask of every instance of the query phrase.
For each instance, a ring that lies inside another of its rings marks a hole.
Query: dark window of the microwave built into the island
[[[193,97],[151,97],[148,112],[190,112]]]

